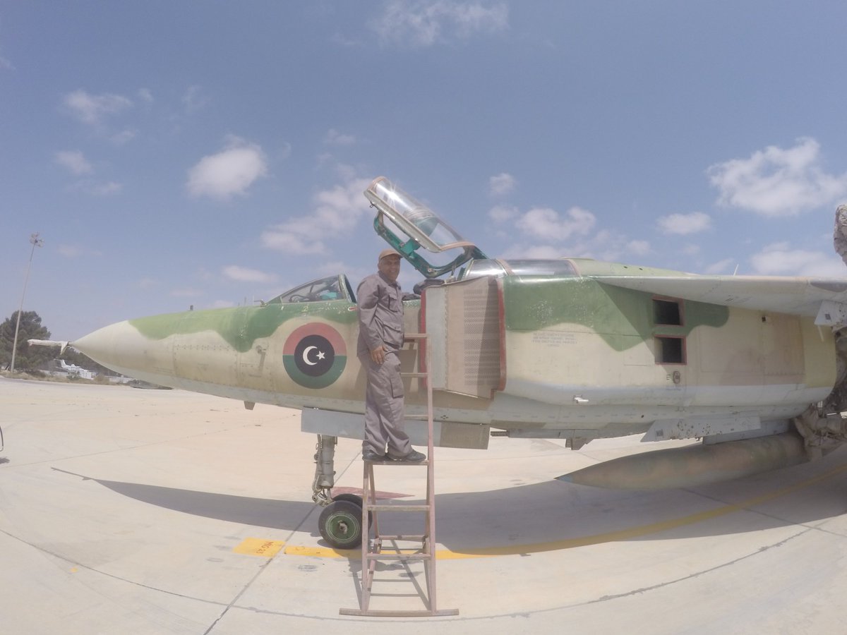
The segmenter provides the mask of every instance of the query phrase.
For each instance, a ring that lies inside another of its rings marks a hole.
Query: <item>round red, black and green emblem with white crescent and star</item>
[[[326,388],[347,363],[344,338],[329,324],[313,322],[294,329],[282,347],[288,376],[306,388]]]

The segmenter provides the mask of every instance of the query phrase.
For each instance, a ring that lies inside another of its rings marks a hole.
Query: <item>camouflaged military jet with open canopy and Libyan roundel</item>
[[[429,334],[431,352],[408,345],[401,361],[429,373],[435,445],[702,440],[560,477],[643,489],[786,467],[847,439],[847,279],[500,260],[385,177],[364,195],[376,232],[424,276],[420,295],[404,301],[405,321],[407,332]],[[340,273],[261,306],[130,319],[71,345],[153,384],[301,409],[302,430],[318,434],[313,499],[329,509],[341,504],[331,497],[335,441],[363,438],[357,330]],[[424,414],[423,382],[407,378],[406,389],[407,414]],[[407,428],[425,442],[421,422]],[[329,542],[361,539],[348,538]]]

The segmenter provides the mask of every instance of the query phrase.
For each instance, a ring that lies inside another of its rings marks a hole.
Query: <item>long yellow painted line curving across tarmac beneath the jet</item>
[[[484,547],[482,549],[463,549],[462,551],[451,551],[450,549],[439,550],[435,553],[437,560],[465,560],[468,558],[490,558],[495,555],[525,555],[534,554],[544,551],[557,551],[560,549],[573,549],[574,547],[587,547],[592,544],[613,543],[622,540],[632,540],[648,536],[652,533],[666,532],[670,529],[685,527],[687,525],[695,525],[698,522],[706,522],[713,518],[726,516],[736,511],[742,511],[756,505],[762,505],[769,500],[778,499],[785,494],[791,494],[800,489],[805,489],[810,485],[821,483],[828,478],[832,478],[842,472],[847,472],[847,465],[836,467],[829,472],[821,474],[817,477],[808,478],[800,483],[789,485],[789,487],[778,489],[769,494],[762,494],[755,498],[744,500],[734,505],[722,505],[712,510],[700,511],[696,514],[688,516],[680,516],[678,518],[670,518],[667,521],[650,522],[646,525],[637,527],[629,527],[627,529],[619,529],[614,532],[596,533],[593,536],[580,536],[579,538],[566,538],[564,540],[554,540],[547,543],[535,544],[512,544],[507,547]],[[311,555],[318,558],[348,558],[350,560],[359,560],[362,554],[361,549],[331,549],[329,547],[301,547],[288,546],[283,550],[285,555]],[[410,552],[413,553],[413,552]]]

